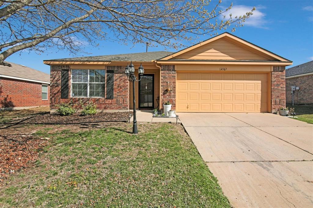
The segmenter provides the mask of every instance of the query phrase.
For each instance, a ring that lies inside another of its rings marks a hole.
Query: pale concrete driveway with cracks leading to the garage
[[[313,125],[271,113],[179,113],[234,207],[313,207]]]

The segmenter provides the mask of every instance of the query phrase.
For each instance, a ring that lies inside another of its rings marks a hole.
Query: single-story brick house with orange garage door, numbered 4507
[[[136,75],[136,108],[177,112],[274,112],[285,106],[286,58],[228,32],[178,52],[145,52],[44,60],[50,65],[50,109],[62,102],[93,101],[99,110],[133,108],[130,62]]]

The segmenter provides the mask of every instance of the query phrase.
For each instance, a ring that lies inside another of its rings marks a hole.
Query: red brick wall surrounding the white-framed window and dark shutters
[[[69,69],[69,98],[61,99],[61,70]],[[68,65],[53,65],[50,67],[50,109],[57,109],[60,103],[94,102],[100,110],[128,110],[129,109],[129,81],[123,66],[107,66],[107,70],[114,70],[114,99],[103,98],[71,98],[71,71]],[[106,90],[106,85],[105,85]],[[106,92],[105,92],[106,95]],[[80,106],[76,106],[79,108]]]

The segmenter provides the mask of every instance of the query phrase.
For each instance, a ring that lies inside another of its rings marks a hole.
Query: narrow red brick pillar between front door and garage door
[[[167,88],[170,91],[167,92]],[[172,109],[176,109],[176,71],[175,65],[162,65],[161,66],[161,105],[163,102],[169,101],[172,103]]]

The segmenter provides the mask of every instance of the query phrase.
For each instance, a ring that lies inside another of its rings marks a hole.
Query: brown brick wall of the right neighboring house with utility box
[[[291,86],[300,87],[294,92],[295,105],[313,105],[313,75],[286,79],[286,103],[292,103]]]

